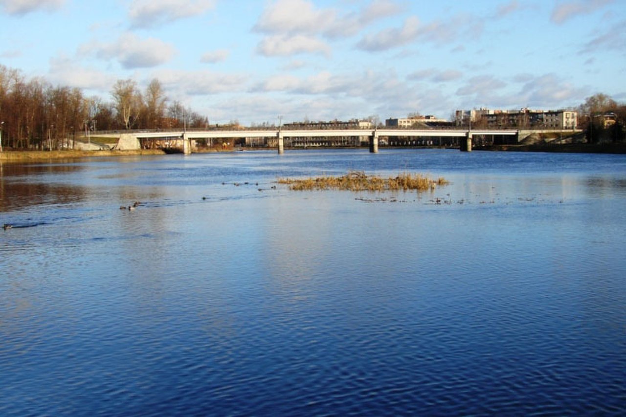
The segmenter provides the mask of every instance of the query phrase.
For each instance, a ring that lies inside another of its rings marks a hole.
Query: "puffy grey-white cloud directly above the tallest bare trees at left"
[[[149,68],[166,63],[175,54],[171,44],[160,39],[140,39],[133,33],[125,33],[115,43],[92,43],[81,47],[81,51],[95,50],[96,56],[103,59],[115,59],[123,68]]]

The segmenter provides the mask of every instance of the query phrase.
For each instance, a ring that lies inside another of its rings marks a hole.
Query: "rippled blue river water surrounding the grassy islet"
[[[276,183],[348,170],[451,183]],[[625,156],[4,163],[0,192],[2,415],[626,413]]]

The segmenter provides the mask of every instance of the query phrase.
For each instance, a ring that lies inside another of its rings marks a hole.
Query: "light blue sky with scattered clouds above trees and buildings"
[[[626,0],[0,0],[0,64],[242,125],[626,101]]]

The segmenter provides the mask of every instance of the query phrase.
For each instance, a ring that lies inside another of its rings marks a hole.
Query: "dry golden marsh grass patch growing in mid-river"
[[[436,180],[426,175],[401,173],[397,177],[382,178],[366,175],[362,171],[351,171],[341,177],[315,177],[304,179],[279,178],[280,184],[289,185],[290,190],[347,190],[347,191],[428,191],[448,183],[444,178]]]

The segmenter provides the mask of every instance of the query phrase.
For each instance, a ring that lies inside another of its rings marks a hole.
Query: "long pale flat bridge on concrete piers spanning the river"
[[[468,130],[468,129],[319,129],[319,130],[172,130],[172,131],[124,131],[121,133],[96,134],[99,137],[118,138],[118,149],[140,148],[140,140],[161,139],[182,141],[183,153],[192,152],[192,140],[230,139],[230,138],[267,138],[275,139],[278,153],[284,153],[285,138],[332,138],[332,137],[359,137],[368,138],[369,152],[378,152],[380,137],[386,138],[424,138],[448,137],[459,138],[462,151],[471,152],[472,138],[475,135],[503,135],[518,136],[519,130]]]

